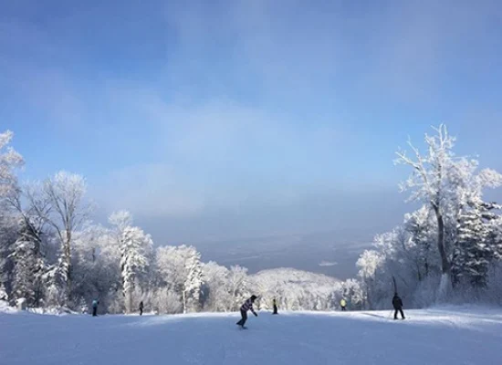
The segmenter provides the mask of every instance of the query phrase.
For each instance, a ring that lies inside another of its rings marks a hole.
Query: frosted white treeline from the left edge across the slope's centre
[[[33,308],[131,313],[141,301],[157,313],[234,311],[251,294],[258,306],[277,297],[285,309],[333,309],[358,284],[293,269],[249,276],[244,267],[204,263],[191,245],[154,249],[152,237],[125,211],[92,224],[82,176],[58,172],[21,184],[23,158],[0,134],[0,300],[25,299]],[[354,297],[353,308],[361,306]]]

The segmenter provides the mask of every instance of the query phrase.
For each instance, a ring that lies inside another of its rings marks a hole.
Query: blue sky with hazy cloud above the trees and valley
[[[22,178],[81,173],[157,242],[390,229],[394,152],[440,123],[502,171],[497,0],[0,5]]]

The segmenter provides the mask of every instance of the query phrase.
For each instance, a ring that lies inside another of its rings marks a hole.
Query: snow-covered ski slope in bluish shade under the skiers
[[[0,364],[431,365],[502,363],[502,309],[294,312],[250,318],[0,313]]]

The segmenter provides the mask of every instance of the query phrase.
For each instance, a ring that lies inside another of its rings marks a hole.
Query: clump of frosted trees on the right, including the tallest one
[[[426,136],[424,155],[413,145],[413,158],[398,152],[398,162],[413,167],[402,188],[412,190],[411,199],[424,205],[406,214],[392,232],[377,235],[374,251],[361,255],[366,307],[388,306],[394,289],[409,305],[423,307],[437,299],[462,297],[459,291],[465,285],[456,284],[467,283],[467,290],[488,287],[497,276],[499,206],[484,202],[483,193],[501,186],[502,175],[478,171],[476,160],[455,157],[455,139],[444,126],[436,131]],[[452,284],[455,292],[448,290]]]

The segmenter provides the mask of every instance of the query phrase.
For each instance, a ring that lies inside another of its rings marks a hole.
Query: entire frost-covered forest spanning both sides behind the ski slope
[[[425,134],[424,151],[409,141],[396,152],[395,163],[410,173],[399,189],[418,209],[375,235],[358,276],[345,281],[205,263],[193,245],[154,245],[126,210],[93,223],[98,207],[83,176],[19,181],[24,159],[13,138],[0,133],[0,300],[10,305],[85,312],[99,299],[101,313],[132,313],[141,301],[158,314],[235,311],[255,294],[262,309],[277,298],[282,309],[337,310],[345,298],[361,310],[390,308],[394,291],[405,308],[502,304],[502,206],[484,199],[502,175],[456,156],[444,125]]]

